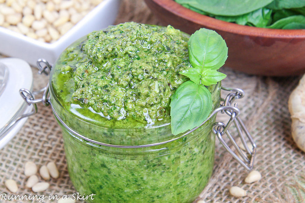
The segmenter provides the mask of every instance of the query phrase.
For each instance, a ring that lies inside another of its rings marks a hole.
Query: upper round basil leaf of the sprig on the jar
[[[213,30],[201,28],[188,41],[188,60],[193,67],[219,69],[228,58],[228,47]]]

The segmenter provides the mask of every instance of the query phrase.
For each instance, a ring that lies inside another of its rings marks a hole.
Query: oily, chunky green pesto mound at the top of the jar
[[[188,38],[133,22],[93,32],[60,56],[53,87],[67,110],[104,127],[168,123],[170,97],[188,80],[178,73],[190,66]]]

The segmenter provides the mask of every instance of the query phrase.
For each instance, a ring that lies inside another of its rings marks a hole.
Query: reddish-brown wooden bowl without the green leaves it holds
[[[204,16],[173,0],[145,0],[164,26],[192,34],[202,27],[215,30],[227,43],[225,66],[248,74],[300,75],[305,72],[305,30],[242,26]]]

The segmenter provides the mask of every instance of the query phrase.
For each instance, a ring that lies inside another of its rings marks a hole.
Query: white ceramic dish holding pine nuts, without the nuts
[[[36,66],[38,58],[49,63],[56,61],[59,54],[75,40],[94,31],[101,30],[116,19],[121,0],[104,0],[81,21],[54,43],[45,43],[0,27],[0,53],[21,58]]]

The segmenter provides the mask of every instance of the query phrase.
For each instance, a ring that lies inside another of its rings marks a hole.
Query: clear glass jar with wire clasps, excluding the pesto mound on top
[[[43,64],[43,65],[42,65]],[[41,72],[51,66],[38,60]],[[54,70],[54,69],[53,69]],[[91,195],[88,202],[192,202],[211,177],[214,165],[215,135],[231,155],[251,170],[256,145],[240,120],[239,109],[231,105],[243,96],[237,88],[210,86],[213,110],[199,127],[177,136],[170,124],[141,129],[109,129],[86,122],[65,110],[50,81],[43,88],[42,99],[21,89],[20,94],[37,112],[36,104],[51,105],[62,128],[70,179],[82,195]],[[230,91],[221,99],[220,90]],[[42,91],[41,90],[41,91]],[[50,90],[50,98],[48,91]],[[215,122],[217,112],[230,116],[227,124]],[[234,123],[246,154],[241,152],[228,128]],[[241,156],[239,158],[222,139],[227,135]],[[245,136],[253,146],[250,151]]]

